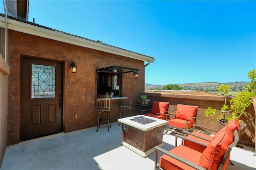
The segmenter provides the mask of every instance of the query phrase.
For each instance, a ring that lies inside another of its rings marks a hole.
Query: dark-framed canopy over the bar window
[[[97,69],[97,71],[100,71],[100,72],[108,72],[108,73],[114,73],[114,74],[124,74],[128,72],[139,71],[139,70],[140,69],[137,69],[137,68],[129,68],[129,67],[115,66],[115,65]]]

